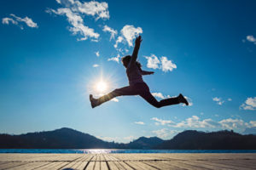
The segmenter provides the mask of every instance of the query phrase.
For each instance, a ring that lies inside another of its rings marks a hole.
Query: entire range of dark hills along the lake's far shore
[[[165,150],[256,150],[256,135],[233,131],[204,133],[184,131],[173,139],[141,137],[129,144],[106,142],[102,139],[63,127],[53,131],[20,135],[0,134],[4,149],[165,149]]]

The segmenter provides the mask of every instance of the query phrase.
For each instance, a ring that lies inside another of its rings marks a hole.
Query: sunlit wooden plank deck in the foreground
[[[256,154],[0,154],[0,169],[256,169]]]

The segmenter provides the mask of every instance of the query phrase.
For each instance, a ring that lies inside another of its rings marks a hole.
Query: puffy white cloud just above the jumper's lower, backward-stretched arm
[[[162,56],[160,59],[154,54],[150,56],[144,56],[147,61],[147,67],[152,69],[161,69],[162,71],[172,71],[177,69],[177,65],[172,63],[172,60],[167,59],[167,57]]]

